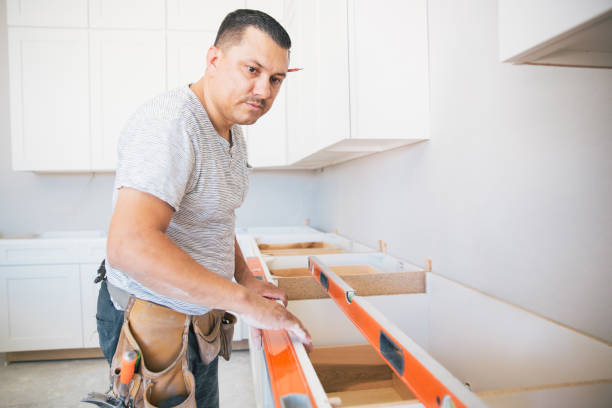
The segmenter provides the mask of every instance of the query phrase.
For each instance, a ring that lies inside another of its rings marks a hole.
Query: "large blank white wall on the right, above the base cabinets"
[[[431,140],[326,169],[313,224],[612,341],[612,70],[498,62],[496,3],[430,0]]]

